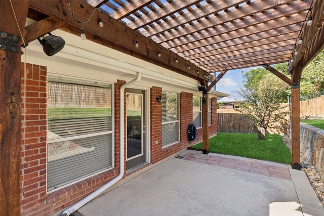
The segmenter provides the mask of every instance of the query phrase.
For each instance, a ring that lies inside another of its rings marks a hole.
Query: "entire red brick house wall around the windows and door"
[[[117,80],[114,84],[114,164],[115,168],[88,179],[76,182],[51,193],[46,191],[46,106],[47,106],[47,68],[32,64],[26,65],[26,97],[24,101],[24,66],[21,71],[22,92],[22,129],[21,129],[21,214],[22,215],[52,215],[61,212],[68,206],[83,199],[94,190],[116,177],[119,172],[119,88],[125,81]],[[187,141],[187,126],[192,122],[192,94],[180,94],[180,142],[162,148],[161,123],[162,105],[156,101],[162,89],[150,89],[151,118],[151,162],[155,163],[189,146]],[[126,94],[125,94],[126,107]],[[26,110],[24,109],[26,107]],[[212,99],[212,111],[216,111],[216,98]],[[124,110],[126,116],[126,109]],[[217,114],[212,114],[213,125],[210,134],[216,133]],[[24,117],[26,121],[24,122]],[[126,120],[125,120],[126,131]],[[199,142],[202,139],[199,131]],[[25,139],[24,139],[25,137]],[[126,143],[126,135],[125,135]],[[124,149],[126,154],[126,146]],[[126,160],[126,158],[125,158]],[[126,163],[125,163],[126,169]]]

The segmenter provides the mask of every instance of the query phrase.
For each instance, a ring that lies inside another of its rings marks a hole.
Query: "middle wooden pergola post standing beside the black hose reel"
[[[207,91],[203,92],[203,154],[209,154],[209,95]]]

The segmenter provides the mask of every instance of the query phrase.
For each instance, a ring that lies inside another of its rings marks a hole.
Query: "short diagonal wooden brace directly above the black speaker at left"
[[[54,31],[55,29],[58,29],[63,25],[65,25],[65,22],[57,19],[56,17],[48,17],[33,24],[30,24],[24,29],[24,41],[27,44],[28,42],[37,39],[37,37],[48,32]]]

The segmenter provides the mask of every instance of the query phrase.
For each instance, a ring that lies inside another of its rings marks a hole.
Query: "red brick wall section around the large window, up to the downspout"
[[[118,175],[119,171],[119,81],[115,84],[115,167],[57,191],[46,193],[46,80],[47,68],[26,65],[24,103],[24,66],[21,72],[21,214],[52,215],[83,199]],[[125,81],[124,81],[125,83]],[[26,107],[26,111],[24,111]],[[25,140],[24,140],[24,114]]]

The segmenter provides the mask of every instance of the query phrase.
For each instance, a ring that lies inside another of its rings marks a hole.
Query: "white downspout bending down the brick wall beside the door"
[[[100,195],[102,192],[110,188],[113,184],[118,182],[121,178],[124,176],[124,90],[129,87],[130,85],[138,82],[141,80],[142,73],[137,72],[137,76],[135,79],[125,83],[124,85],[121,85],[119,88],[119,110],[122,110],[119,112],[119,175],[112,179],[110,182],[107,182],[105,185],[101,186],[98,188],[96,191],[93,193],[89,194],[82,200],[78,201],[74,205],[71,205],[70,207],[66,208],[62,215],[63,216],[68,216],[80,207],[84,206],[91,200],[93,200],[95,197]]]

